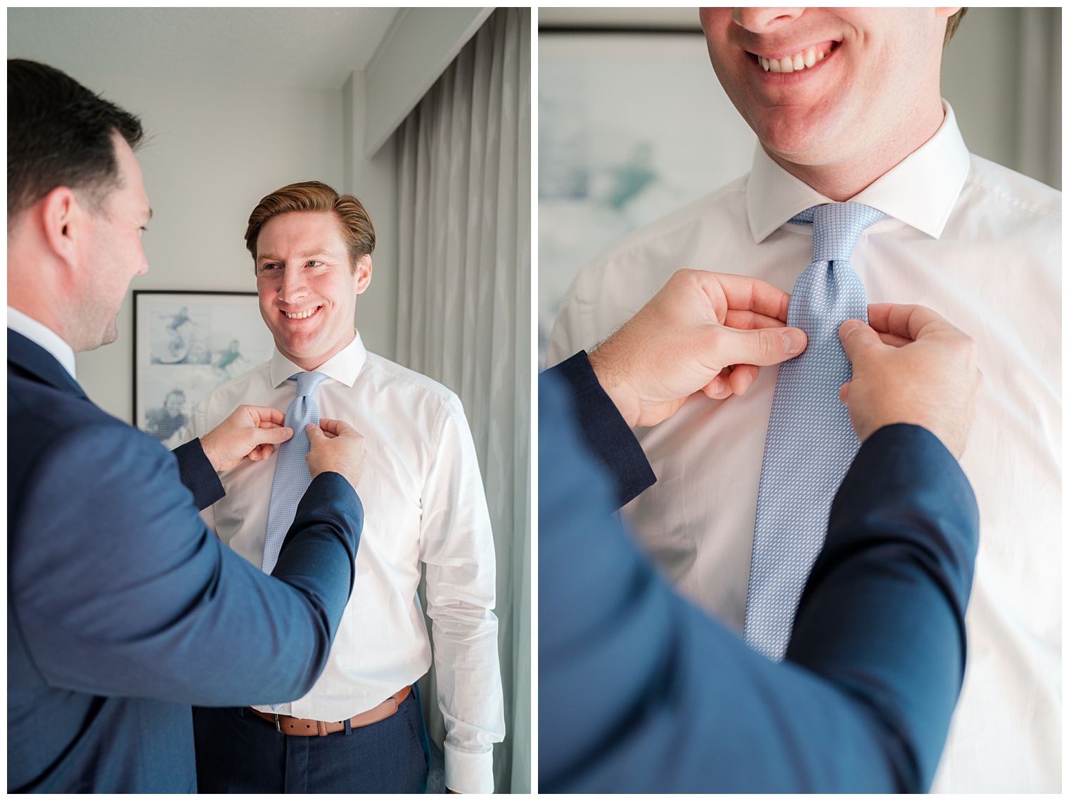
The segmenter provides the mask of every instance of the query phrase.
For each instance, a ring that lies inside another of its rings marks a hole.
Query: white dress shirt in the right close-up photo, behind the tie
[[[869,303],[929,306],[972,336],[985,386],[962,467],[980,509],[965,681],[936,791],[1057,792],[1062,777],[1062,194],[940,130],[852,200],[887,217],[851,264]],[[547,363],[590,349],[681,267],[790,292],[830,202],[760,147],[749,174],[621,241],[564,298]],[[657,482],[625,514],[679,589],[738,631],[778,368],[742,397],[696,396],[637,433]]]

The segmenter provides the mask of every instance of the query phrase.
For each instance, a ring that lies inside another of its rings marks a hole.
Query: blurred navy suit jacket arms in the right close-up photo
[[[865,442],[773,663],[678,596],[613,515],[645,458],[591,381],[585,354],[539,381],[540,789],[926,790],[978,541],[957,460],[916,426]]]

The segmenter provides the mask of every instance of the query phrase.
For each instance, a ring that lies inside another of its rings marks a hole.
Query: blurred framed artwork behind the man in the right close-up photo
[[[538,42],[541,366],[583,265],[745,173],[756,137],[700,29],[542,31]]]

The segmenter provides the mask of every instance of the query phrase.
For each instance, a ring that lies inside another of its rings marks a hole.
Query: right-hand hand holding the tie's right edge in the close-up
[[[972,338],[924,306],[873,304],[869,325],[848,320],[839,339],[854,366],[839,399],[862,442],[884,426],[912,422],[961,458],[983,384]]]

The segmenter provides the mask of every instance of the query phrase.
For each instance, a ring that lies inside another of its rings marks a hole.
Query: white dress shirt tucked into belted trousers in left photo
[[[187,438],[242,403],[284,412],[301,368],[277,350],[270,361],[222,384],[197,405]],[[437,382],[368,353],[359,334],[316,369],[322,417],[365,436],[357,486],[363,533],[353,596],[323,675],[277,711],[341,721],[386,700],[431,665],[416,588],[427,566],[438,704],[446,723],[446,785],[493,792],[493,743],[505,736],[497,658],[494,540],[475,446],[460,399]],[[220,474],[227,496],[204,510],[219,538],[255,566],[263,557],[277,451]],[[259,707],[268,711],[268,707]]]

